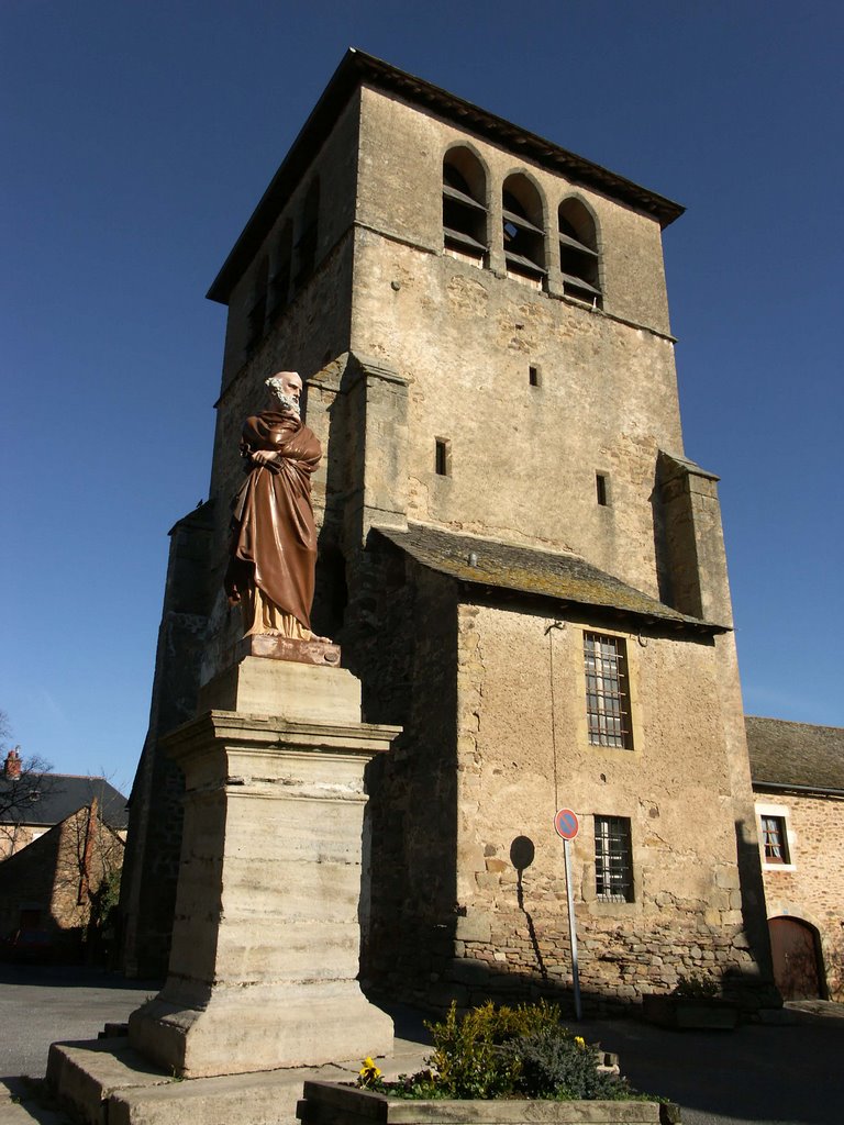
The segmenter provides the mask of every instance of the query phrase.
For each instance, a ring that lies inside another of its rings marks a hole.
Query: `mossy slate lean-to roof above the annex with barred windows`
[[[576,555],[515,547],[423,524],[410,524],[407,531],[379,528],[378,534],[422,566],[477,586],[538,594],[575,605],[599,606],[645,621],[707,633],[726,632],[728,629],[686,616]]]

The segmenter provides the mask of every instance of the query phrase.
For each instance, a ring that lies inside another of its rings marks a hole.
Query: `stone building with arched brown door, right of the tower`
[[[844,730],[745,723],[776,986],[844,1000]]]

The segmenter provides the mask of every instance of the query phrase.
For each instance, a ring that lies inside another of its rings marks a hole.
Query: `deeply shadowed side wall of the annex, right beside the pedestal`
[[[452,955],[456,601],[451,583],[401,557],[381,552],[369,565],[381,573],[406,566],[408,580],[398,584],[394,570],[383,584],[383,631],[367,641],[352,614],[344,634],[344,658],[363,683],[366,720],[404,727],[367,774],[371,914],[361,975],[378,991],[431,1002],[431,974]]]

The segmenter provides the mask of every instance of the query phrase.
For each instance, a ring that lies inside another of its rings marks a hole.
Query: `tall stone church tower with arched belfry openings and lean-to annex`
[[[228,307],[212,500],[172,532],[131,971],[163,968],[172,914],[179,778],[156,741],[237,637],[241,425],[294,369],[324,450],[314,628],[363,718],[404,728],[370,767],[363,978],[430,1004],[565,993],[565,806],[587,1010],[693,973],[764,994],[717,477],[683,450],[665,291],[681,213],[343,58],[209,292]]]

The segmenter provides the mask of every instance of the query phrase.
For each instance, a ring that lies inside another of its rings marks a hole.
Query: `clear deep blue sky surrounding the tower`
[[[722,477],[745,708],[844,726],[844,6],[2,0],[15,741],[128,791],[167,532],[207,495],[204,294],[350,45],[688,207],[664,240],[685,446]]]

